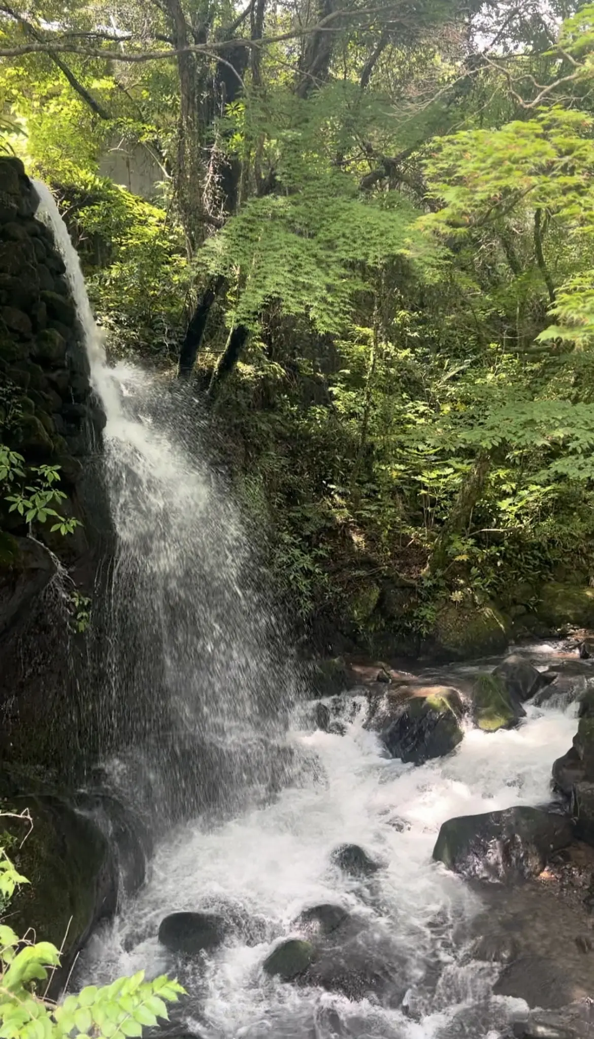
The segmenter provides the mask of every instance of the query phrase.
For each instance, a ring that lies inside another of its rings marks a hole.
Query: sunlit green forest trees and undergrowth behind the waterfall
[[[591,4],[0,3],[3,148],[113,355],[204,394],[304,617],[594,574],[593,85]]]

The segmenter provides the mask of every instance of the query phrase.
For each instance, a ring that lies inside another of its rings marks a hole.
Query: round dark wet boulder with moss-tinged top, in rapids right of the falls
[[[372,701],[367,728],[376,731],[393,757],[423,765],[443,757],[462,740],[462,701],[449,686],[413,681],[390,686]]]

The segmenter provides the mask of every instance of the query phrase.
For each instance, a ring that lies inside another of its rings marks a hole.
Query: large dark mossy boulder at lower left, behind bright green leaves
[[[15,842],[10,857],[29,881],[10,902],[10,926],[20,935],[33,928],[38,941],[58,948],[63,942],[65,966],[98,921],[115,911],[117,880],[109,847],[90,819],[53,795],[20,796],[4,807],[28,809],[32,820],[24,843],[27,824],[2,821]]]

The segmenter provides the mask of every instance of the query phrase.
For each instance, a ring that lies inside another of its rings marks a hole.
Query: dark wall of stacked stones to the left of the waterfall
[[[0,482],[0,760],[59,773],[84,738],[73,602],[93,582],[89,491],[104,418],[64,264],[37,205],[20,160],[0,158],[0,444],[28,473],[59,467],[59,511],[81,524],[66,536],[50,523],[29,528]]]

